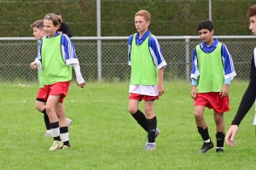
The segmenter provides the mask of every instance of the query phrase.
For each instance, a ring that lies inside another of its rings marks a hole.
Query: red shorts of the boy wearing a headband
[[[69,82],[56,82],[51,85],[44,85],[44,99],[47,100],[50,95],[61,95],[61,99],[59,100],[61,103],[63,99],[67,96],[67,91],[69,88]]]

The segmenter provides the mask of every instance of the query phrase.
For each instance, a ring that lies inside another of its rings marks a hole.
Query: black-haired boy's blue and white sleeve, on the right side
[[[235,66],[233,64],[232,56],[224,44],[222,44],[222,60],[224,64],[224,79],[236,77]]]

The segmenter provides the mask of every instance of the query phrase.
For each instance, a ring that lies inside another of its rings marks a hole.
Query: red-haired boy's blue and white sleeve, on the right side
[[[149,37],[149,50],[154,60],[154,65],[156,65],[158,69],[167,65],[160,44],[154,35]]]

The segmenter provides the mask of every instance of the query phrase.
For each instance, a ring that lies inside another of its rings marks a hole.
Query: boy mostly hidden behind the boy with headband
[[[33,36],[38,41],[40,41],[44,37],[43,26],[44,26],[44,20],[36,20],[31,25],[31,27],[33,29]],[[49,117],[44,108],[46,100],[43,98],[43,95],[44,95],[44,75],[43,74],[44,74],[43,71],[38,71],[39,89],[38,89],[38,95],[36,98],[36,108],[38,111],[40,111],[44,114],[44,124],[46,127],[46,133],[44,134],[44,137],[52,137],[52,133],[51,133],[50,127],[49,127]],[[71,123],[72,123],[72,120],[67,118],[68,126],[71,125]]]

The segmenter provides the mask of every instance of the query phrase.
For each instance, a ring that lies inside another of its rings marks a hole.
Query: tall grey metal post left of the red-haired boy
[[[101,26],[101,0],[97,0],[97,37],[102,37]],[[97,68],[98,68],[98,82],[102,82],[102,40],[97,40]]]

